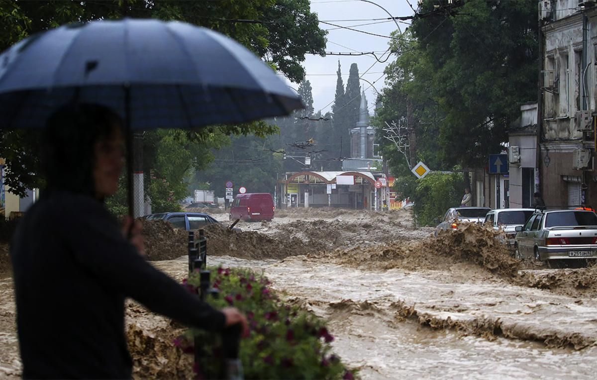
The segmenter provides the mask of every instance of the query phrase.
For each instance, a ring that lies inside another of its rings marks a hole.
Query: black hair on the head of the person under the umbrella
[[[99,104],[68,104],[48,119],[42,138],[45,194],[56,190],[95,195],[94,145],[122,128],[121,118]]]

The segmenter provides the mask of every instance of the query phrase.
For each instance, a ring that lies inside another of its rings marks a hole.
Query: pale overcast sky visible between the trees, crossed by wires
[[[407,0],[371,0],[392,14],[394,17],[412,16],[413,10],[408,5]],[[417,8],[417,0],[408,0]],[[378,35],[389,36],[390,32],[396,30],[396,24],[392,20],[363,20],[363,21],[338,21],[338,20],[362,20],[371,18],[387,18],[389,15],[380,7],[361,0],[311,0],[311,11],[318,14],[319,20],[327,21],[333,24],[344,27],[352,27],[353,29],[364,30],[365,32],[375,33]],[[402,21],[404,22],[404,21]],[[408,27],[408,24],[398,21],[402,32]],[[375,23],[371,25],[361,25]],[[359,26],[357,26],[359,25]],[[327,47],[326,51],[333,52],[364,52],[374,51],[380,57],[384,51],[389,48],[388,42],[390,39],[367,35],[365,33],[355,32],[353,30],[338,29],[335,26],[320,23],[321,29],[327,29]],[[343,45],[343,46],[340,46]],[[387,54],[383,56],[386,58]],[[381,60],[383,60],[383,58]],[[386,63],[378,63],[371,55],[361,55],[358,57],[352,56],[338,56],[326,55],[319,57],[319,55],[307,54],[303,66],[306,69],[306,79],[313,87],[313,108],[315,112],[321,110],[322,113],[331,111],[331,106],[336,94],[336,71],[338,69],[338,59],[340,60],[342,79],[344,86],[350,70],[350,64],[356,63],[359,67],[359,75],[362,75],[372,64],[373,67],[362,76],[369,82],[375,82],[374,86],[378,91],[384,86],[383,69],[388,63],[395,58],[392,55]],[[297,84],[290,84],[297,88]],[[370,87],[365,81],[361,81],[361,89]],[[365,91],[369,105],[370,113],[373,113],[374,101],[376,99],[376,91],[369,88]]]

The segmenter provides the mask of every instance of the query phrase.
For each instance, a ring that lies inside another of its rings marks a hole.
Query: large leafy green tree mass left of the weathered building
[[[400,121],[416,135],[414,162],[433,170],[482,167],[500,152],[520,104],[536,98],[537,4],[425,0],[420,8],[426,16],[390,43],[398,56],[385,70],[378,137],[384,122]],[[392,146],[384,140],[378,142]],[[401,169],[395,148],[384,157],[393,172]]]

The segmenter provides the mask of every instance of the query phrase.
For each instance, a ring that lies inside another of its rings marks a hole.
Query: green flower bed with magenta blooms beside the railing
[[[215,308],[233,306],[247,315],[250,336],[241,340],[240,359],[245,379],[341,379],[352,378],[337,356],[331,354],[324,322],[311,313],[290,307],[269,289],[269,281],[248,270],[212,270],[219,298],[208,298]],[[195,291],[198,273],[192,273],[186,286]],[[192,330],[178,344],[191,344],[193,334],[204,345],[198,371],[221,373],[221,343],[202,330]]]

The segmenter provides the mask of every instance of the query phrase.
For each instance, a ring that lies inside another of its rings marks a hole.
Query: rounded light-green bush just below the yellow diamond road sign
[[[435,218],[441,218],[451,207],[460,206],[464,193],[462,174],[430,173],[416,182],[417,187],[410,199],[414,202],[418,225],[435,225]]]

